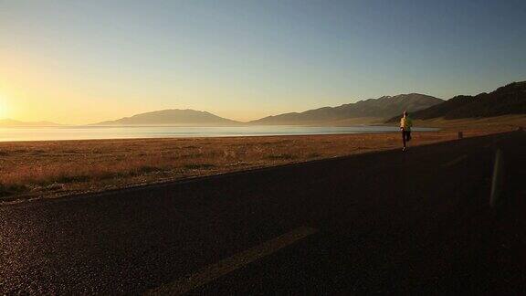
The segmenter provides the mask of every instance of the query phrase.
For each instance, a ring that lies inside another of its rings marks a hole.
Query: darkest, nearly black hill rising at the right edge
[[[411,114],[413,119],[460,119],[526,114],[526,81],[513,82],[490,93],[456,96],[426,110]],[[388,122],[396,122],[395,116]]]

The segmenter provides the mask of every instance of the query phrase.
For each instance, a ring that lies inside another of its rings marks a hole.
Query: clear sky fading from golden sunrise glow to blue
[[[0,37],[0,108],[25,120],[250,120],[526,79],[524,0],[0,0]]]

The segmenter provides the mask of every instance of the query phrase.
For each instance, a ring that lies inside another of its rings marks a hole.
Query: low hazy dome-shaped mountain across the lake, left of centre
[[[235,125],[239,122],[216,116],[205,111],[163,110],[141,113],[120,120],[100,122],[97,125]]]

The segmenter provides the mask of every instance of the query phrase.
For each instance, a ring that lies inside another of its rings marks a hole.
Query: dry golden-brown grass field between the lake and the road
[[[414,132],[413,145],[457,132]],[[489,132],[468,131],[465,136]],[[65,196],[399,148],[398,133],[0,143],[0,200]]]

